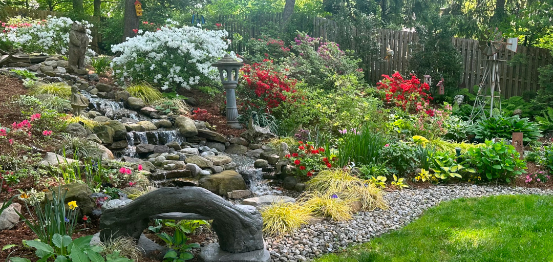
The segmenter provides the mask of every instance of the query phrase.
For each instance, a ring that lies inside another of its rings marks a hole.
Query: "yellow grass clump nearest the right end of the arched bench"
[[[276,202],[261,209],[263,233],[266,235],[293,234],[309,223],[311,210],[297,203]]]

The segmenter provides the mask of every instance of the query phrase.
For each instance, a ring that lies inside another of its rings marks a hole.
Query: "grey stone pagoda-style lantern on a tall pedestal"
[[[227,93],[227,125],[234,129],[242,129],[242,125],[236,119],[238,117],[238,108],[236,107],[236,86],[238,85],[238,69],[242,67],[242,62],[234,60],[226,54],[221,60],[212,64],[219,70],[219,76],[225,91]],[[226,72],[226,75],[223,73]]]

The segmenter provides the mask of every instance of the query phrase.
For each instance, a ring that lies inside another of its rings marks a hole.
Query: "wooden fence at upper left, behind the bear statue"
[[[33,10],[33,9],[18,8],[18,7],[4,7],[3,11],[4,11],[4,15],[6,15],[6,18],[21,16],[21,17],[29,17],[33,19],[46,19],[48,18],[48,15],[51,15],[53,17],[64,16],[64,13],[55,12],[55,11]],[[3,18],[3,19],[6,19],[6,18]],[[91,32],[92,32],[91,34],[92,41],[90,43],[91,49],[94,50],[96,53],[100,54],[100,48],[98,47],[98,43],[102,42],[102,34],[98,32],[98,29],[100,29],[100,18],[88,17],[86,20],[88,20],[88,22],[94,25],[94,27],[91,28]]]

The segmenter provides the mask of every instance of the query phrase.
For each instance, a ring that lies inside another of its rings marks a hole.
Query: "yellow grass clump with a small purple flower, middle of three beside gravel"
[[[333,221],[348,221],[352,218],[352,203],[355,198],[336,193],[307,191],[300,197],[302,207],[311,210],[316,216],[328,217]]]

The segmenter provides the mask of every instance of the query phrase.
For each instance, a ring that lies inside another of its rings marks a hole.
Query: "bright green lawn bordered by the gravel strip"
[[[553,261],[553,197],[459,199],[408,226],[316,262]]]

